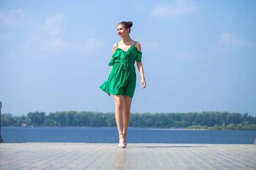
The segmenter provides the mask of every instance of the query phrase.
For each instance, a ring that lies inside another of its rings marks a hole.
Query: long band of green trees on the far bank
[[[1,115],[2,126],[116,127],[115,113],[61,111]],[[248,113],[131,113],[130,127],[256,130],[256,117]]]

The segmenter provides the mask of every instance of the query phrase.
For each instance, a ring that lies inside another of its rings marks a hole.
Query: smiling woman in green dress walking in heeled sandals
[[[141,46],[139,42],[131,39],[131,26],[131,21],[119,23],[117,34],[122,40],[113,45],[113,55],[108,63],[111,66],[111,71],[108,80],[100,86],[109,96],[112,94],[115,101],[119,148],[125,148],[127,144],[126,136],[131,116],[131,100],[136,87],[135,61],[140,72],[142,88],[146,87],[141,62]],[[124,130],[122,130],[122,127],[124,127]]]

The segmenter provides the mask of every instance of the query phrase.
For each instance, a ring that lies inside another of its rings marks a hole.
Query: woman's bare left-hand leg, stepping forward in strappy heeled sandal
[[[122,133],[123,127],[123,96],[121,95],[113,95],[115,101],[115,118],[116,118],[116,125],[118,129],[118,133]],[[123,136],[119,135],[119,144],[125,144],[123,140]]]

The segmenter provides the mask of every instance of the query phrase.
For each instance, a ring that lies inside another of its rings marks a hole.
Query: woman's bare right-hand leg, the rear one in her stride
[[[124,105],[123,105],[124,132],[123,133],[124,133],[124,137],[125,137],[125,142],[127,142],[126,136],[127,136],[127,130],[128,130],[130,118],[131,118],[131,100],[132,100],[132,98],[127,95],[123,97],[123,103],[124,103]]]

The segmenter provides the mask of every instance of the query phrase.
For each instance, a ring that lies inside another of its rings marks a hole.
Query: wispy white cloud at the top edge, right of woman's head
[[[192,14],[197,11],[192,0],[176,0],[175,3],[154,6],[151,15],[154,17],[175,17]]]

